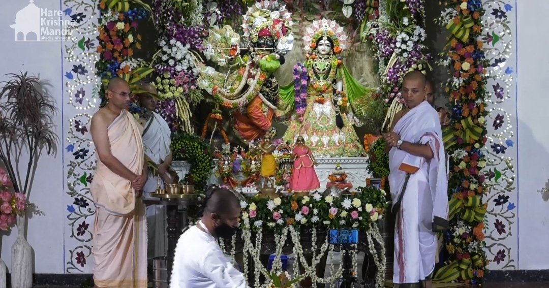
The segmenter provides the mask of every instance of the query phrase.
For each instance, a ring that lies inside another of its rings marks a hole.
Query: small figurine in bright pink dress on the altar
[[[294,167],[292,167],[292,178],[290,179],[290,189],[293,192],[310,192],[320,188],[320,182],[316,176],[315,157],[311,149],[305,146],[305,140],[299,136],[295,142],[294,148]]]

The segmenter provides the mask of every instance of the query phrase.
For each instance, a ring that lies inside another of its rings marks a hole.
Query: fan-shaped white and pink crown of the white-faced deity
[[[340,53],[341,50],[347,49],[348,37],[343,30],[343,27],[339,26],[337,22],[328,20],[326,18],[322,20],[315,20],[312,25],[305,28],[303,36],[303,42],[306,52],[316,48],[316,42],[322,37],[328,37],[334,42],[334,52]]]

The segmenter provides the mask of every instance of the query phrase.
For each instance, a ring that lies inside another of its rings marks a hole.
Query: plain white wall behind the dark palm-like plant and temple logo
[[[59,113],[55,115],[56,133],[63,140],[61,125],[61,107],[63,105],[61,82],[61,43],[59,42],[15,42],[15,32],[9,25],[14,24],[15,14],[29,2],[22,0],[2,0],[0,9],[0,81],[7,77],[4,74],[29,71],[31,75],[49,81],[49,88],[55,97]],[[58,0],[36,0],[41,8],[59,9]],[[55,157],[42,157],[38,163],[35,183],[30,201],[45,213],[29,220],[27,240],[35,253],[36,273],[63,273],[64,270],[64,175],[63,144]],[[10,269],[10,251],[17,236],[17,228],[10,235],[2,238],[0,257]]]

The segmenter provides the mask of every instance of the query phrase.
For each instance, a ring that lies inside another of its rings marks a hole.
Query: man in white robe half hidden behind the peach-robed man
[[[143,126],[143,146],[145,154],[158,165],[158,174],[149,171],[149,178],[143,191],[145,196],[150,197],[160,184],[164,189],[166,182],[173,182],[173,177],[168,173],[172,160],[170,150],[171,131],[162,116],[154,112],[158,100],[156,97],[156,88],[153,84],[147,82],[139,83],[139,90],[143,93],[137,94],[141,111],[139,113],[139,122]],[[160,178],[160,179],[159,179]],[[148,225],[148,257],[152,259],[158,256],[166,255],[166,217],[164,206],[147,206],[147,225]]]

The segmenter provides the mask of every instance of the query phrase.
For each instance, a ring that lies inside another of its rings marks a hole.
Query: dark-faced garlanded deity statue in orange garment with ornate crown
[[[210,31],[210,39],[205,43],[206,58],[217,60],[220,66],[228,64],[228,72],[222,74],[204,67],[199,87],[211,93],[217,104],[236,110],[234,129],[246,142],[270,131],[275,117],[289,114],[291,106],[278,101],[279,84],[273,72],[284,64],[283,55],[293,47],[291,25],[290,13],[284,5],[264,0],[244,15],[248,46],[242,48],[243,53],[240,53],[240,36],[229,26]]]

